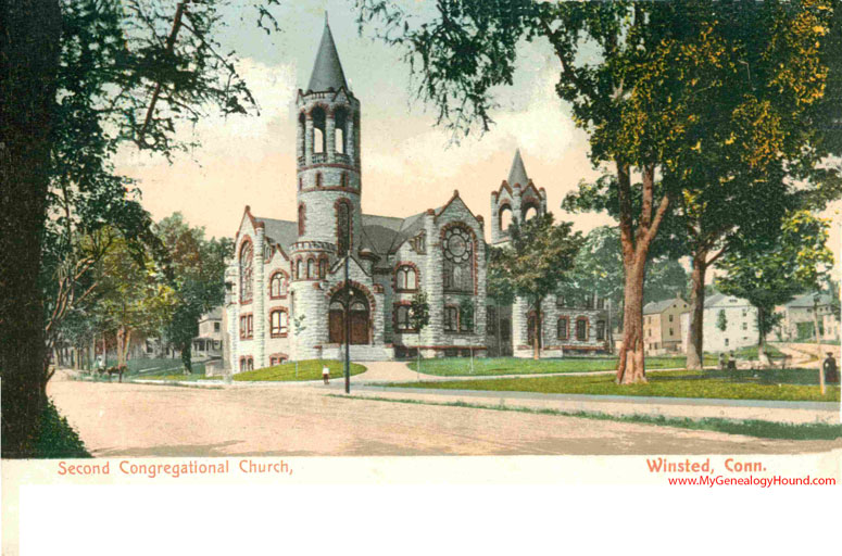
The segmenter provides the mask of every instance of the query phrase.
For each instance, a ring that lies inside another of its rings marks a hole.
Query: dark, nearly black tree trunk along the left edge
[[[2,457],[35,455],[48,357],[38,285],[61,40],[59,0],[0,3]]]

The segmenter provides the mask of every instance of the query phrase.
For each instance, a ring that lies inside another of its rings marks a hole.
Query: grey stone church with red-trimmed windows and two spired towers
[[[425,357],[531,355],[526,344],[535,315],[527,314],[525,302],[498,307],[487,299],[485,223],[458,191],[441,206],[406,218],[362,213],[361,105],[348,87],[327,22],[310,83],[298,91],[296,105],[297,219],[244,210],[226,271],[230,368],[340,358],[345,329],[356,361],[403,357],[418,349]],[[507,218],[546,211],[546,193],[528,179],[519,153],[491,202],[492,244],[506,241]],[[420,334],[410,320],[410,302],[418,291],[426,292],[430,307]],[[542,355],[561,355],[565,345],[607,349],[596,305],[567,315],[562,334],[557,323],[566,308],[555,299],[548,303],[552,307],[539,330]],[[587,331],[577,336],[579,328]]]

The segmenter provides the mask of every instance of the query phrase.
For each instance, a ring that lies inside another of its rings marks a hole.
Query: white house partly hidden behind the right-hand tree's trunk
[[[681,315],[682,348],[687,352],[690,341],[691,312]],[[725,330],[720,329],[725,325]],[[704,350],[728,352],[757,344],[757,309],[746,300],[715,293],[705,299]]]

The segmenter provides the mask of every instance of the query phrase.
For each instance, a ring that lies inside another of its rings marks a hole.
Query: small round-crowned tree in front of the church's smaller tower
[[[500,288],[527,301],[536,313],[536,327],[542,321],[541,303],[555,293],[567,273],[573,269],[576,253],[582,243],[580,232],[573,232],[568,222],[555,224],[552,213],[535,216],[524,223],[512,223],[510,241],[492,248],[489,273],[507,283]],[[535,358],[540,357],[540,333],[532,334]]]

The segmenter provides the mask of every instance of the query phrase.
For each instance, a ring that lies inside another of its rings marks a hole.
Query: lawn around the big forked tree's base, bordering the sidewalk
[[[664,371],[649,375],[649,383],[618,386],[611,375],[453,380],[444,382],[392,383],[401,388],[444,390],[489,390],[498,392],[539,392],[552,394],[639,395],[665,397],[707,397],[722,400],[784,400],[839,402],[839,387],[829,386],[821,396],[817,386],[805,384],[812,370],[777,371],[791,376],[768,375],[726,377],[712,372]],[[784,381],[784,378],[789,380]],[[817,380],[817,378],[816,378]]]

